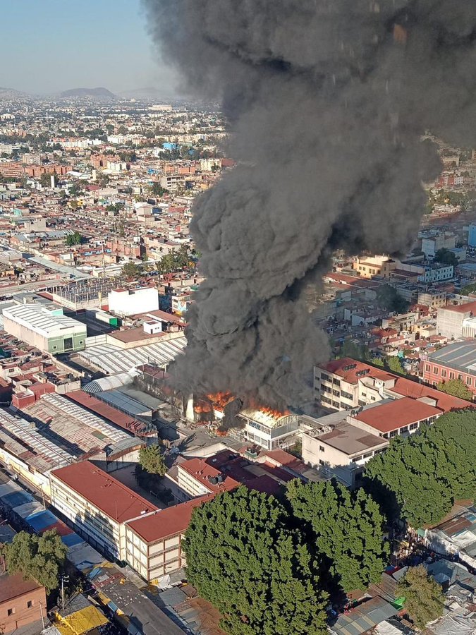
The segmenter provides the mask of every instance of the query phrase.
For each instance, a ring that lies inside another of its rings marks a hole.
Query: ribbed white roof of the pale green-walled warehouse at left
[[[41,304],[19,304],[4,309],[4,317],[44,337],[85,333],[86,327],[72,317],[56,315]]]

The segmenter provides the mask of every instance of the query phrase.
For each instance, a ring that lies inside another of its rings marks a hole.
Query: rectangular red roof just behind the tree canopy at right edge
[[[371,425],[381,433],[387,433],[440,414],[441,410],[438,408],[410,399],[410,397],[403,397],[403,399],[395,399],[381,406],[363,410],[355,416],[355,419]]]

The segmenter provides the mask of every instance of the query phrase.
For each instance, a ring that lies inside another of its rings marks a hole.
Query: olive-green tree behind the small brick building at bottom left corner
[[[47,588],[48,593],[58,588],[59,574],[66,561],[68,549],[54,530],[42,536],[31,536],[20,531],[11,544],[1,546],[8,571],[20,572],[27,579],[36,580]]]

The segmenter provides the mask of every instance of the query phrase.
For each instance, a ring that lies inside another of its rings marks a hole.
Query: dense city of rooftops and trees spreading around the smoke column
[[[476,152],[433,138],[406,255],[334,253],[331,359],[279,411],[169,381],[219,109],[0,111],[4,632],[474,632]]]

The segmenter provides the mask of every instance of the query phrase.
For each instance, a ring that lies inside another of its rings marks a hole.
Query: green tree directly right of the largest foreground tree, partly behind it
[[[310,524],[319,552],[331,561],[329,571],[344,591],[377,582],[388,563],[383,539],[384,516],[362,488],[350,493],[335,480],[288,483],[286,497],[296,518]]]

